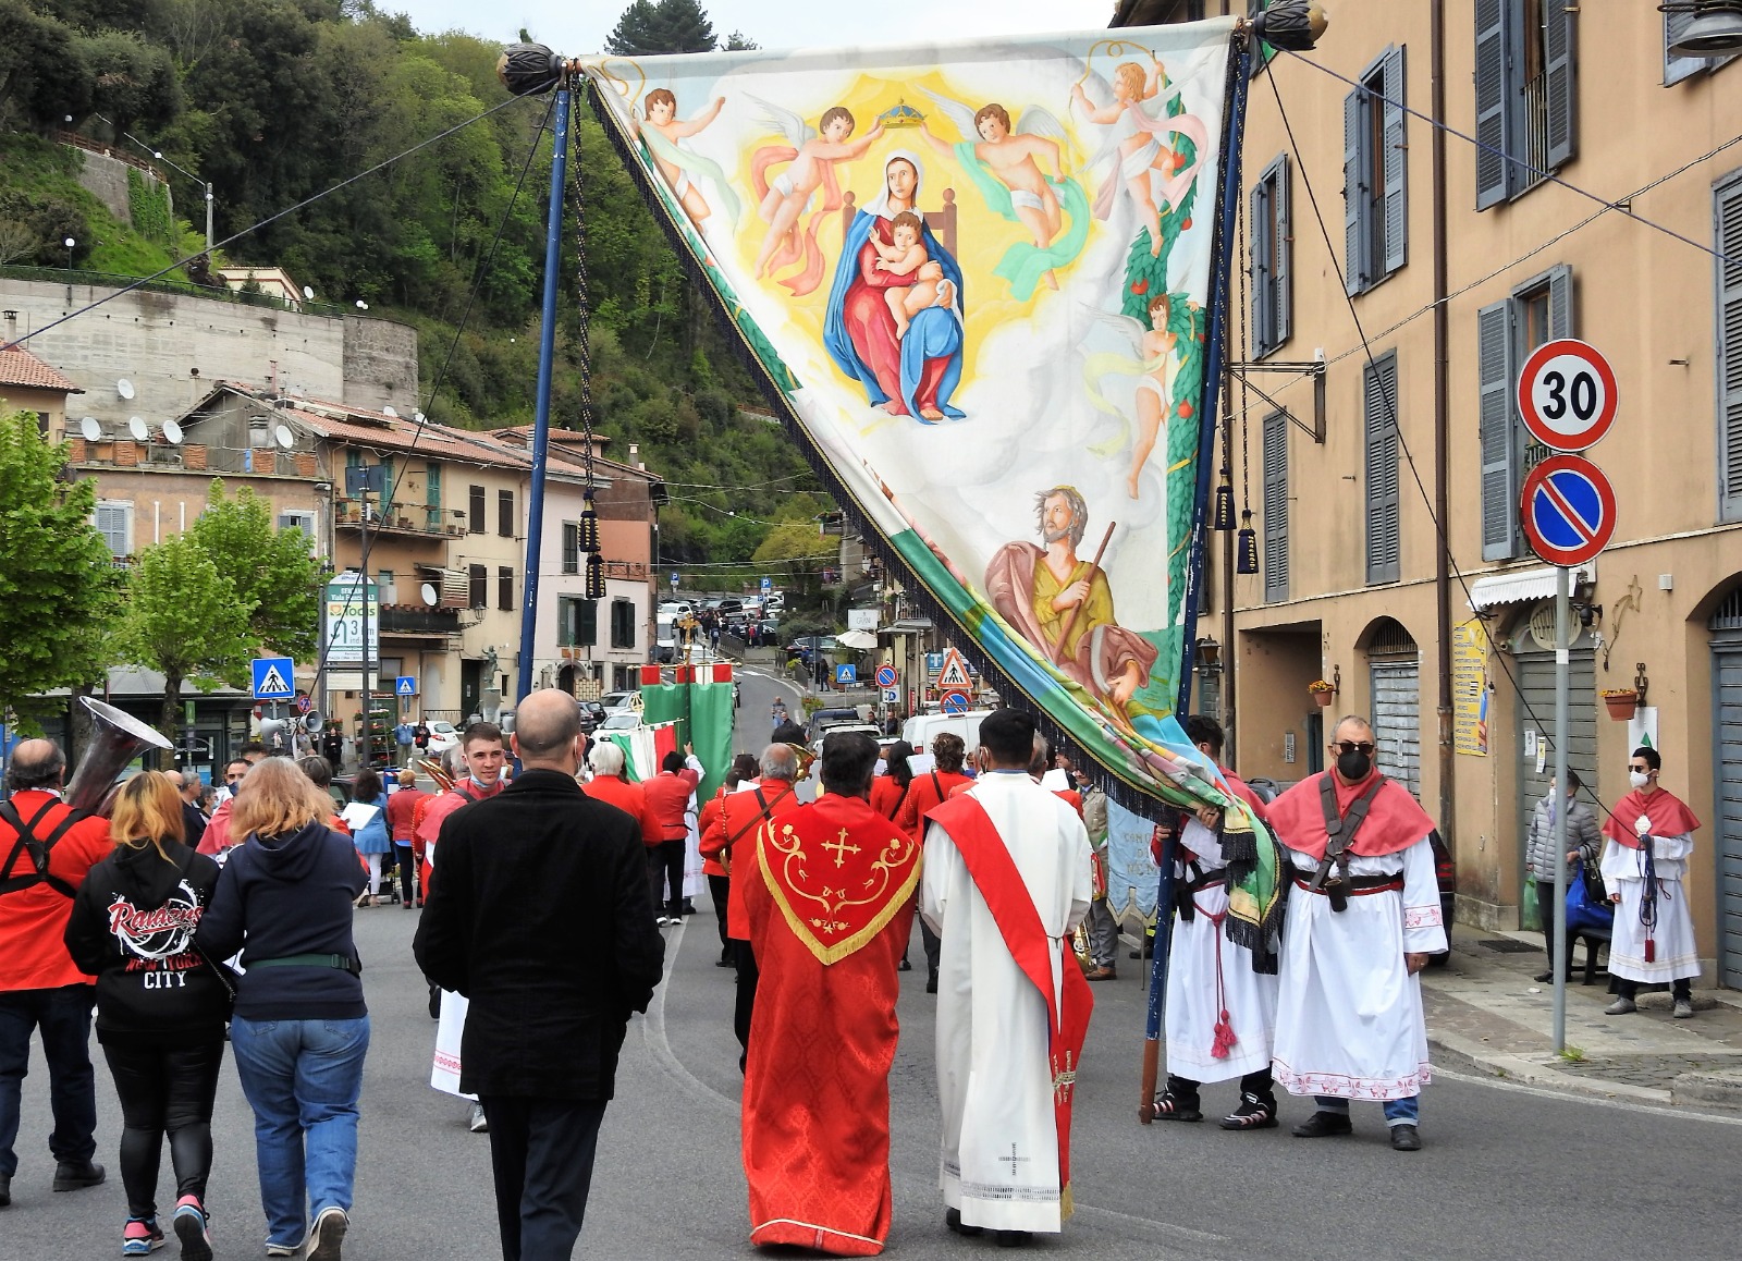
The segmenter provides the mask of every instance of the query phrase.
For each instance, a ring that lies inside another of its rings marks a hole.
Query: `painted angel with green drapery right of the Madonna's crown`
[[[1023,110],[1012,129],[1010,111],[998,103],[982,105],[976,111],[948,96],[920,91],[937,103],[963,136],[951,145],[922,122],[920,134],[927,145],[941,157],[962,164],[986,200],[986,209],[1021,223],[1031,237],[1031,242],[1010,246],[993,275],[1010,282],[1010,294],[1017,301],[1028,301],[1042,280],[1057,289],[1054,270],[1071,263],[1089,240],[1089,197],[1077,179],[1064,174],[1064,127],[1036,105]],[[979,139],[967,139],[969,136]],[[1064,228],[1066,219],[1070,228]]]

